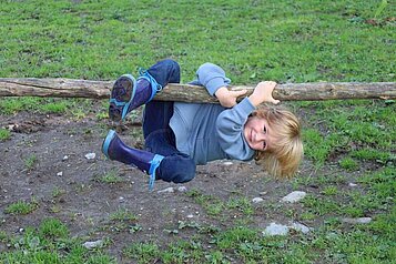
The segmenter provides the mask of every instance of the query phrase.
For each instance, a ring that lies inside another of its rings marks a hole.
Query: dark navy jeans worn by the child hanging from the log
[[[159,84],[180,82],[180,67],[173,60],[163,60],[149,70]],[[143,113],[143,135],[145,150],[163,155],[156,177],[165,182],[183,183],[195,176],[195,162],[177,151],[175,135],[169,125],[173,115],[173,102],[151,101],[145,104]]]

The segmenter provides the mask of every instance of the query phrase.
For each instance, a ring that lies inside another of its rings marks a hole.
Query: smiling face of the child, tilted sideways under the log
[[[271,143],[274,142],[273,131],[268,122],[263,118],[250,116],[243,133],[247,144],[256,151],[266,151],[271,149]]]

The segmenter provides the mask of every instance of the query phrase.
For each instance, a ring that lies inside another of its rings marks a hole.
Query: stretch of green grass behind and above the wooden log
[[[0,9],[0,22],[7,26],[0,31],[6,48],[1,72],[114,79],[172,57],[182,63],[183,75],[193,77],[200,63],[213,61],[238,83],[393,80],[394,23],[364,22],[377,10],[377,1],[255,2],[243,8],[236,0],[8,2]],[[388,4],[377,19],[393,13],[395,7]]]

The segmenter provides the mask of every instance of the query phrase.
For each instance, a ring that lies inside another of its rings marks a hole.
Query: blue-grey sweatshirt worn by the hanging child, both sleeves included
[[[191,84],[203,85],[207,92],[214,93],[226,87],[231,80],[219,65],[204,63],[196,71],[196,80]],[[170,121],[176,148],[203,165],[213,160],[248,161],[254,156],[243,133],[248,115],[255,110],[245,98],[232,109],[220,104],[174,103],[173,116]]]

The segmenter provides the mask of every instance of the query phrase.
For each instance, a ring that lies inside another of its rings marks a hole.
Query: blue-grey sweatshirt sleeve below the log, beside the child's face
[[[245,98],[232,109],[224,110],[216,121],[216,133],[223,151],[232,159],[252,160],[252,150],[244,136],[244,124],[248,115],[255,110],[251,101]]]

